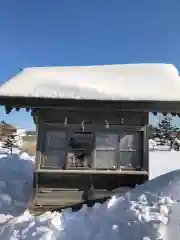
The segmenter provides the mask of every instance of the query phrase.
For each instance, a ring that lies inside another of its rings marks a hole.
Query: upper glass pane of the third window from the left
[[[118,135],[114,133],[97,133],[96,149],[116,149]]]

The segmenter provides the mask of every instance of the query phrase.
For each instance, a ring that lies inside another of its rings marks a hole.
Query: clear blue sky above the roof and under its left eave
[[[180,69],[179,12],[179,0],[1,0],[0,83],[28,66],[165,62]],[[0,116],[34,128],[24,111],[0,108]]]

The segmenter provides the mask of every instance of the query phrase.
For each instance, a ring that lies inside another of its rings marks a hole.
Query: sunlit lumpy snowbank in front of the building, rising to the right
[[[180,201],[179,192],[177,170],[91,209],[84,206],[75,213],[47,212],[40,217],[26,211],[11,221],[2,234],[9,234],[9,239],[175,240],[172,230],[178,226],[169,222],[173,203]]]

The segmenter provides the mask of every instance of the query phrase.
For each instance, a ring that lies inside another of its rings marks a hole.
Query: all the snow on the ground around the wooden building
[[[150,152],[148,183],[91,209],[34,217],[25,210],[34,159],[1,151],[0,240],[179,239],[179,168],[180,152]]]

